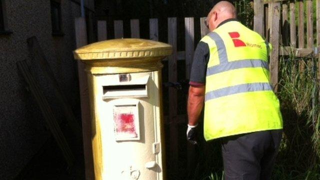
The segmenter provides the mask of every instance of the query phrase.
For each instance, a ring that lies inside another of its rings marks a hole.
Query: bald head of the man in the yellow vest
[[[216,3],[207,15],[210,31],[214,30],[223,20],[236,17],[234,5],[226,0]]]

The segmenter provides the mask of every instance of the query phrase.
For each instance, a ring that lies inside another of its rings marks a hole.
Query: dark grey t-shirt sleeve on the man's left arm
[[[209,61],[209,47],[207,43],[200,41],[194,51],[190,72],[190,85],[204,85],[206,67]]]

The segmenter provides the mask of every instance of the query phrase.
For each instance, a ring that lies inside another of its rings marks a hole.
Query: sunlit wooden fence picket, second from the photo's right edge
[[[306,0],[306,47],[313,47],[313,11],[312,0]]]

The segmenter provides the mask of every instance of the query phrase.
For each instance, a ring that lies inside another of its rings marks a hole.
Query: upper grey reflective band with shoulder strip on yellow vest
[[[241,60],[229,62],[228,56],[226,53],[226,48],[220,35],[217,34],[216,32],[210,32],[208,36],[215,42],[215,45],[218,51],[219,64],[208,67],[206,70],[207,76],[215,73],[220,73],[220,72],[224,72],[232,69],[245,68],[245,67],[263,67],[267,70],[269,69],[268,62],[262,59],[241,59]],[[265,44],[268,50],[269,47],[266,41],[265,41]]]

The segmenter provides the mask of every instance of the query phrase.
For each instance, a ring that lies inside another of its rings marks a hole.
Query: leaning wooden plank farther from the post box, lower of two
[[[30,70],[27,67],[25,60],[17,61],[17,66],[20,72],[22,73],[25,82],[27,82],[29,90],[31,91],[32,96],[34,97],[34,100],[40,108],[46,126],[50,130],[54,140],[60,148],[68,167],[71,167],[74,162],[74,156],[72,154],[70,146],[68,145],[60,129],[60,126],[56,118],[53,115],[53,111],[49,105],[49,102],[46,100],[44,94],[40,91],[40,86],[35,80],[34,76],[30,73]]]

